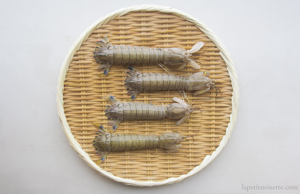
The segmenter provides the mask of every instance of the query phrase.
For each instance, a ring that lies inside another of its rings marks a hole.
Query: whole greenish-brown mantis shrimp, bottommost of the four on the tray
[[[102,125],[96,125],[99,130],[93,140],[96,154],[101,157],[102,162],[110,151],[128,151],[138,149],[165,148],[167,153],[178,151],[180,144],[187,137],[179,132],[168,132],[162,134],[110,134]]]

